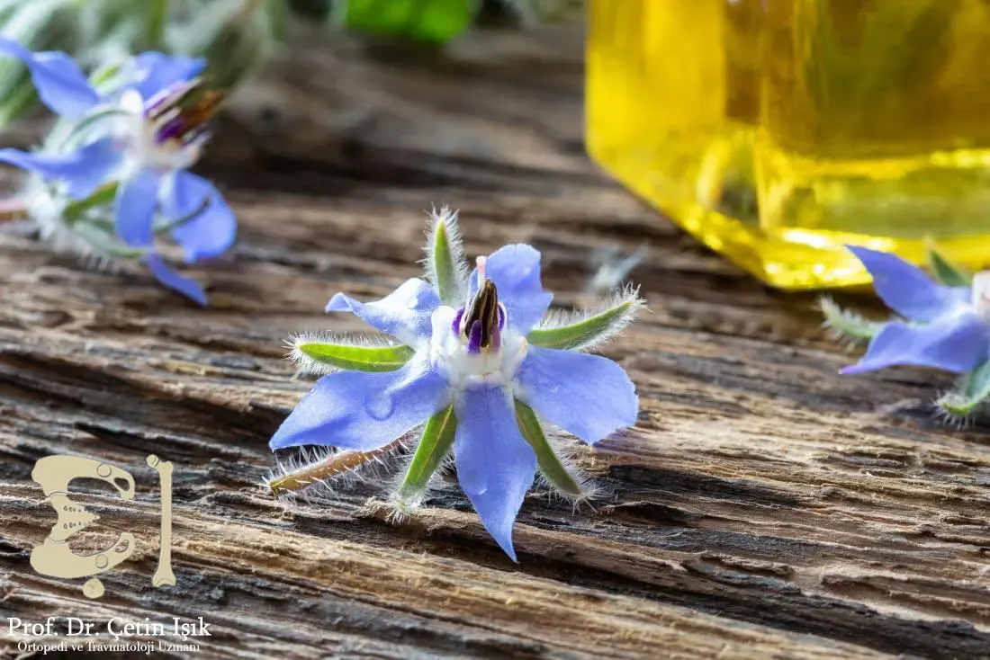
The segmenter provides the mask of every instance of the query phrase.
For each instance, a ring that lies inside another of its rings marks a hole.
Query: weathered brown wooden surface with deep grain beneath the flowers
[[[440,65],[300,50],[215,141],[243,229],[197,272],[206,311],[139,269],[0,237],[0,617],[203,616],[197,657],[990,657],[990,428],[937,424],[929,374],[840,378],[812,297],[764,289],[597,173],[579,55],[567,32]],[[284,337],[357,330],[324,304],[414,275],[433,203],[461,210],[472,254],[539,246],[560,305],[596,248],[651,249],[633,273],[651,314],[606,351],[640,423],[580,451],[593,507],[533,492],[518,565],[452,481],[401,525],[363,508],[374,483],[288,508],[258,487],[309,386]],[[51,453],[140,484],[135,503],[80,496],[105,525],[91,546],[147,539],[100,601],[28,563],[54,521],[30,477]],[[170,590],[149,585],[148,453],[176,464]]]

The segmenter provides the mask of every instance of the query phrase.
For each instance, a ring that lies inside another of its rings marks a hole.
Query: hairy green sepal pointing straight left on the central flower
[[[340,369],[395,371],[413,356],[409,346],[387,339],[337,333],[297,334],[289,339],[289,359],[306,373],[327,374]]]

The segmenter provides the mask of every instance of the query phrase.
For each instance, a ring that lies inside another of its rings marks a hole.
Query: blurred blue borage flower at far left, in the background
[[[170,236],[192,263],[223,253],[236,235],[217,189],[186,171],[221,98],[198,77],[204,61],[145,52],[87,79],[64,52],[0,39],[0,53],[28,66],[39,97],[61,118],[41,150],[0,149],[0,160],[43,182],[29,185],[24,200],[43,234],[107,258],[139,258],[162,284],[205,305],[199,284],[156,249]]]

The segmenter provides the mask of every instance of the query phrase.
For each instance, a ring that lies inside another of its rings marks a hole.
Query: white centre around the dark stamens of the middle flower
[[[433,338],[430,359],[452,388],[476,389],[507,385],[526,357],[526,337],[510,328],[502,333],[497,348],[468,350],[468,339],[453,328],[457,313],[451,307],[440,307],[433,315]]]

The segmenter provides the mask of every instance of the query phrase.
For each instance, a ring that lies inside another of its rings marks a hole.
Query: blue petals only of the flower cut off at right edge
[[[990,274],[977,275],[971,287],[945,286],[893,254],[849,250],[873,276],[877,295],[905,321],[884,324],[862,359],[841,373],[894,365],[966,373],[990,358]]]

